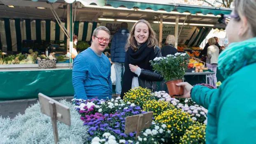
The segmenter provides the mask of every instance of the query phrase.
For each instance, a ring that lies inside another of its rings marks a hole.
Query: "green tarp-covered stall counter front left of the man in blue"
[[[37,64],[24,65],[26,68],[0,66],[0,101],[38,98],[38,93],[50,97],[74,95],[72,63],[57,63],[54,69],[39,69]]]

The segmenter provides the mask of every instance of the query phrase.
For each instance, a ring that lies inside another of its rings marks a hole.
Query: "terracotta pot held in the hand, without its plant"
[[[182,82],[182,79],[165,82],[170,96],[173,97],[173,96],[183,95],[183,87],[176,86],[176,84],[181,83],[181,82]]]

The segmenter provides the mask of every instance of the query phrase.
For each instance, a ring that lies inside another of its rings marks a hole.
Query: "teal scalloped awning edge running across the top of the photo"
[[[38,1],[38,0],[32,0]],[[153,9],[154,11],[165,10],[166,12],[177,11],[180,13],[190,12],[191,14],[202,13],[202,14],[230,14],[232,9],[222,8],[222,7],[207,7],[198,5],[185,5],[176,4],[170,2],[156,2],[156,0],[48,0],[49,2],[61,2],[65,1],[67,3],[81,2],[83,5],[90,5],[95,3],[96,5],[102,7],[104,5],[111,5],[112,7],[126,7],[128,9],[138,8],[138,9]]]

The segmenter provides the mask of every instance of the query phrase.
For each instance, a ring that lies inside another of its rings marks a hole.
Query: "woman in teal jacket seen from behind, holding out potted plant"
[[[208,109],[207,144],[256,144],[256,0],[235,0],[225,16],[231,43],[219,56],[226,79],[218,89],[184,87],[182,98],[192,98]]]

